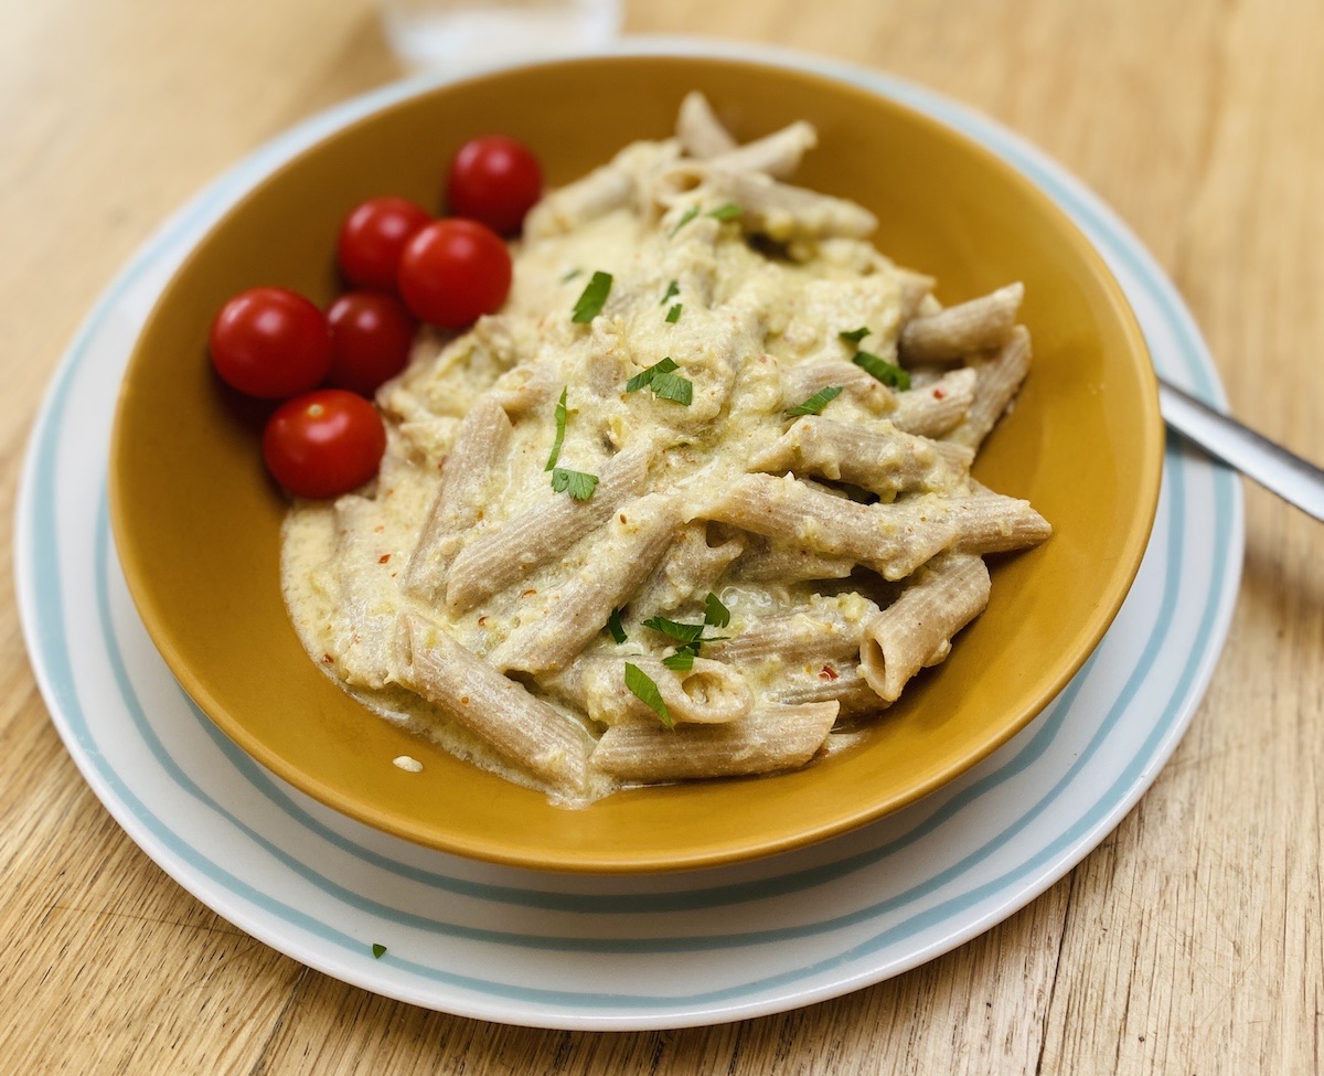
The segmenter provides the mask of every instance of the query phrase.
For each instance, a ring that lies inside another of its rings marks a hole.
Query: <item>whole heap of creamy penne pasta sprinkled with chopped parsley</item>
[[[299,502],[285,595],[377,713],[581,806],[804,766],[1046,539],[970,478],[1030,358],[1019,285],[943,309],[859,205],[691,94],[526,220],[504,309],[377,394],[376,482]]]

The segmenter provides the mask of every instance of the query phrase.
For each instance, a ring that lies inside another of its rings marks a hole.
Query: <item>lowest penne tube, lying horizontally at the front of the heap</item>
[[[637,783],[740,777],[794,770],[813,758],[837,720],[835,702],[763,706],[728,725],[690,725],[674,731],[658,722],[608,729],[592,765]]]

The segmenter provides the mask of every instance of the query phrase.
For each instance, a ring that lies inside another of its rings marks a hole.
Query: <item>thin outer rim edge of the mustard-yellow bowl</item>
[[[833,816],[824,822],[800,824],[794,827],[784,827],[775,836],[768,836],[756,843],[741,843],[733,845],[724,845],[716,848],[703,848],[690,853],[674,853],[674,855],[649,855],[641,853],[632,857],[593,857],[584,855],[583,849],[539,849],[538,853],[530,853],[528,851],[520,851],[511,847],[493,845],[482,840],[469,840],[465,837],[455,837],[454,835],[438,834],[434,827],[425,826],[408,826],[401,824],[397,815],[383,811],[377,804],[361,799],[355,799],[352,795],[347,795],[343,788],[328,784],[312,775],[306,770],[301,769],[298,765],[290,762],[285,755],[273,751],[263,741],[253,735],[248,726],[242,722],[234,720],[234,717],[228,712],[224,705],[211,694],[205,688],[199,674],[193,671],[188,661],[184,660],[183,655],[179,652],[172,641],[171,627],[168,618],[163,614],[160,607],[156,604],[152,596],[151,588],[146,584],[146,565],[135,561],[135,555],[143,550],[138,549],[131,541],[126,542],[124,538],[131,529],[130,521],[126,518],[123,501],[122,501],[122,466],[119,464],[123,453],[123,439],[124,429],[120,421],[122,400],[117,403],[115,419],[111,435],[111,453],[110,453],[110,466],[109,466],[109,514],[111,523],[111,533],[115,538],[115,549],[120,559],[120,565],[124,571],[124,578],[128,584],[130,595],[134,604],[147,628],[148,636],[152,644],[162,653],[167,665],[169,667],[172,674],[184,688],[187,694],[195,701],[195,704],[208,716],[208,718],[233,742],[236,742],[246,754],[253,757],[256,761],[262,763],[266,769],[271,770],[274,774],[281,777],[283,780],[298,787],[301,791],[311,795],[320,803],[336,810],[348,818],[357,819],[372,828],[392,834],[395,836],[402,837],[414,844],[422,844],[440,851],[457,853],[475,860],[498,863],[511,867],[532,868],[538,871],[557,871],[568,873],[588,873],[588,875],[616,875],[616,873],[643,873],[643,872],[671,872],[671,871],[686,871],[704,867],[716,867],[732,863],[740,863],[753,859],[760,859],[779,852],[789,851],[792,848],[804,847],[813,844],[850,830],[857,828],[861,824],[873,822],[899,810],[915,800],[928,795],[939,787],[943,787],[957,775],[968,770],[970,766],[977,765],[977,762],[986,755],[992,754],[1000,746],[1012,739],[1017,733],[1019,733],[1026,725],[1029,725],[1051,701],[1062,692],[1062,689],[1070,682],[1070,680],[1079,672],[1079,669],[1088,660],[1090,655],[1098,647],[1099,641],[1103,639],[1108,627],[1112,624],[1117,611],[1124,602],[1127,592],[1129,591],[1135,576],[1140,568],[1140,561],[1144,555],[1144,550],[1148,546],[1149,535],[1155,525],[1155,518],[1158,506],[1158,492],[1160,492],[1160,478],[1162,469],[1162,419],[1158,412],[1158,396],[1157,396],[1157,380],[1153,374],[1152,363],[1149,362],[1149,351],[1144,334],[1140,330],[1139,322],[1136,321],[1135,311],[1131,309],[1128,299],[1125,298],[1120,284],[1112,274],[1107,262],[1103,260],[1102,254],[1090,242],[1084,232],[1070,219],[1070,216],[1058,205],[1058,203],[1035,183],[1023,170],[1017,167],[1013,162],[1008,160],[1005,156],[994,152],[992,148],[984,146],[982,143],[974,140],[970,135],[965,134],[953,125],[945,122],[940,117],[916,106],[914,102],[904,99],[900,95],[895,95],[887,91],[886,87],[871,85],[863,86],[854,82],[843,81],[843,78],[833,72],[822,70],[814,66],[801,66],[796,62],[794,53],[790,50],[769,50],[771,54],[760,52],[756,56],[744,56],[739,52],[667,52],[657,49],[658,40],[653,38],[650,46],[641,52],[632,52],[628,48],[621,50],[610,50],[604,53],[592,54],[572,54],[556,58],[543,58],[532,62],[512,62],[510,65],[503,65],[490,70],[483,70],[478,73],[470,73],[459,78],[441,80],[434,78],[425,80],[410,80],[410,91],[393,97],[384,102],[372,103],[364,113],[332,127],[331,130],[320,133],[314,140],[307,146],[303,146],[299,151],[290,155],[289,158],[281,160],[274,168],[265,171],[262,175],[257,176],[252,183],[249,183],[242,195],[230,204],[213,224],[207,229],[207,232],[193,244],[187,252],[185,257],[176,266],[171,274],[171,281],[167,282],[162,292],[162,296],[154,303],[152,310],[144,322],[142,330],[135,339],[132,354],[130,356],[128,366],[126,367],[126,380],[128,372],[136,363],[136,356],[142,341],[148,335],[152,322],[160,314],[163,301],[171,290],[171,285],[185,276],[189,272],[189,266],[196,258],[200,257],[200,250],[207,245],[209,237],[220,228],[222,224],[236,213],[240,207],[246,204],[249,200],[260,197],[262,188],[271,180],[273,176],[294,167],[308,155],[315,154],[323,142],[330,136],[339,136],[354,127],[372,123],[381,114],[391,111],[393,109],[402,109],[410,106],[418,97],[428,95],[436,91],[449,91],[457,86],[462,86],[473,80],[486,80],[490,77],[500,77],[502,74],[508,74],[512,72],[522,72],[535,68],[560,68],[563,65],[579,65],[579,64],[600,64],[602,61],[629,64],[633,60],[646,58],[646,60],[674,60],[674,61],[699,61],[699,62],[715,62],[730,65],[735,64],[747,68],[761,68],[773,73],[790,73],[800,78],[810,78],[824,83],[830,83],[837,91],[843,91],[854,94],[863,98],[880,99],[887,105],[896,107],[908,114],[910,119],[918,122],[925,127],[937,129],[944,136],[956,139],[965,151],[977,154],[985,158],[986,163],[1001,171],[1016,187],[1021,189],[1035,205],[1037,211],[1045,217],[1054,221],[1054,228],[1058,231],[1067,241],[1067,244],[1074,248],[1078,257],[1086,264],[1091,265],[1094,269],[1094,278],[1102,288],[1108,305],[1116,311],[1120,322],[1120,330],[1129,342],[1129,354],[1133,354],[1137,359],[1137,372],[1143,376],[1140,378],[1143,391],[1136,400],[1139,404],[1137,421],[1140,428],[1145,432],[1147,439],[1152,441],[1148,451],[1144,453],[1144,466],[1140,474],[1136,476],[1135,494],[1136,504],[1140,510],[1131,519],[1127,527],[1124,542],[1123,542],[1123,558],[1127,562],[1127,570],[1124,572],[1124,582],[1119,582],[1113,591],[1110,592],[1108,600],[1099,603],[1095,607],[1095,612],[1091,620],[1091,625],[1084,636],[1087,643],[1080,645],[1078,653],[1072,653],[1068,660],[1063,660],[1057,665],[1057,672],[1053,677],[1045,681],[1045,685],[1039,692],[1034,694],[1033,700],[1029,700],[1023,706],[1023,710],[1017,714],[1016,720],[1002,722],[997,734],[989,737],[984,743],[980,745],[977,757],[969,758],[968,754],[963,754],[960,758],[953,759],[945,769],[936,773],[931,779],[916,783],[903,800],[896,803],[890,803],[884,806],[866,804],[863,807],[857,807],[854,810],[846,810],[834,812]],[[841,65],[842,68],[847,65]],[[1140,359],[1144,359],[1140,363]],[[1141,368],[1143,367],[1143,368]]]

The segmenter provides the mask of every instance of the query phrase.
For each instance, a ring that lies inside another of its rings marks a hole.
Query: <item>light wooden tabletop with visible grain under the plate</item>
[[[1140,235],[1234,411],[1324,461],[1324,7],[669,0],[632,32],[875,65],[1042,146]],[[0,3],[0,513],[71,334],[225,166],[397,76],[368,0]],[[29,1073],[1172,1072],[1324,1067],[1324,527],[1247,489],[1242,592],[1153,788],[1047,893],[890,982],[647,1034],[483,1024],[253,941],[126,836],[52,727],[0,529],[0,1068]],[[20,1063],[21,1061],[21,1063]]]

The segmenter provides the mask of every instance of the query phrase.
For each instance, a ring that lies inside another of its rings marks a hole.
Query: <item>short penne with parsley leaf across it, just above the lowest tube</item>
[[[548,685],[602,725],[657,724],[657,714],[625,685],[626,661],[657,684],[677,725],[726,725],[753,709],[753,693],[744,677],[724,661],[707,657],[695,657],[688,669],[669,669],[661,660],[642,655],[585,655]]]

